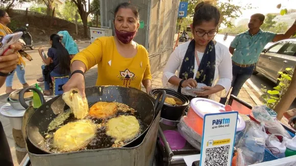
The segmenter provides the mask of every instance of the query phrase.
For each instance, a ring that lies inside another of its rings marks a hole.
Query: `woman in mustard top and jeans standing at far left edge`
[[[6,11],[0,10],[0,36],[5,36],[7,34],[12,34],[13,33],[7,27],[7,24],[9,24],[9,23],[10,23],[9,15],[6,13]],[[23,61],[23,59],[21,58],[19,53],[18,53],[18,56],[19,56],[19,61],[18,61],[18,64],[16,66],[16,69],[13,71],[12,74],[10,74],[6,78],[6,91],[5,91],[6,93],[11,93],[11,92],[15,91],[15,89],[12,89],[12,81],[13,81],[15,71],[16,71],[16,75],[18,77],[18,80],[22,84],[22,87],[29,87],[29,85],[28,85],[28,83],[26,81],[26,78],[24,76],[24,74],[25,74],[24,67],[26,66],[26,63]],[[29,55],[27,55],[26,58],[29,61],[32,61],[32,58]]]

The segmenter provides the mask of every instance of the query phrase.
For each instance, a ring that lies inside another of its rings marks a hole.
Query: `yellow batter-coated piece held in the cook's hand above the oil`
[[[83,119],[88,115],[88,102],[86,97],[82,98],[78,89],[71,89],[62,96],[65,103],[70,107],[75,118]]]

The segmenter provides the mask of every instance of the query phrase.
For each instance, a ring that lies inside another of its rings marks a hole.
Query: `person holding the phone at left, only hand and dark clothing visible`
[[[22,47],[20,44],[10,45],[2,56],[0,56],[0,88],[3,86],[5,79],[17,68],[19,54],[16,52]],[[0,121],[0,163],[1,165],[13,166],[13,160],[10,147],[7,142],[6,134],[2,122]]]

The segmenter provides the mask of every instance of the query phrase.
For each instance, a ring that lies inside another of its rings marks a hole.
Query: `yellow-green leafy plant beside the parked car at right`
[[[266,90],[266,86],[261,85],[261,91],[264,93],[261,95],[263,98],[263,102],[270,108],[274,109],[279,101],[282,99],[283,95],[286,93],[288,87],[290,86],[290,82],[292,79],[292,68],[286,68],[286,72],[279,72],[281,75],[278,78],[279,84],[277,87],[274,87],[274,90]]]

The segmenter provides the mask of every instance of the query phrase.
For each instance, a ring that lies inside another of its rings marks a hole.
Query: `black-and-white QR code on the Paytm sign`
[[[229,145],[206,149],[205,166],[226,166],[228,154]]]

